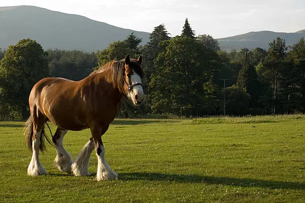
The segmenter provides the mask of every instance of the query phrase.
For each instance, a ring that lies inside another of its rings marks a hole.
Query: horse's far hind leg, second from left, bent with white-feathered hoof
[[[62,172],[70,174],[71,165],[73,163],[72,157],[64,149],[62,144],[63,138],[67,132],[67,130],[57,128],[52,140],[56,149],[56,158],[54,160],[55,167],[57,167]]]

